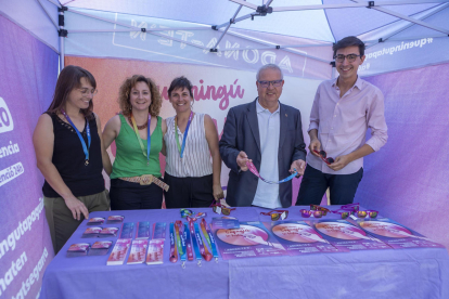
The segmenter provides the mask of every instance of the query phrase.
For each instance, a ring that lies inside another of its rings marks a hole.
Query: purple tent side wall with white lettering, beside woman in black
[[[51,102],[57,54],[1,15],[0,32],[0,296],[29,298],[53,257],[31,138]]]

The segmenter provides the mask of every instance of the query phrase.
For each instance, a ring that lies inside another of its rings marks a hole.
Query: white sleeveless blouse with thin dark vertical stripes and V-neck
[[[175,116],[166,119],[167,133],[164,135],[167,148],[165,171],[178,178],[200,178],[213,173],[209,145],[204,128],[204,114],[195,113],[190,123],[185,148],[181,159],[175,134]],[[182,145],[184,134],[178,128],[179,144]]]

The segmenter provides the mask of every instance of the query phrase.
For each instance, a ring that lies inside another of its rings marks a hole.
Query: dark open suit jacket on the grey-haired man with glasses
[[[223,134],[219,142],[221,159],[228,166],[229,182],[226,202],[233,207],[251,206],[256,194],[258,178],[248,171],[239,171],[236,157],[245,152],[257,170],[260,171],[260,135],[257,121],[256,101],[232,107],[228,112]],[[300,113],[298,109],[281,104],[281,133],[279,138],[279,180],[290,176],[294,160],[306,160]],[[292,206],[292,181],[279,185],[282,207]]]

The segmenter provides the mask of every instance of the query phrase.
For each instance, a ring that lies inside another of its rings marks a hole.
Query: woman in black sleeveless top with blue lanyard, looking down
[[[100,119],[92,112],[95,93],[92,74],[66,66],[33,135],[37,167],[46,179],[43,203],[55,253],[89,212],[110,209],[102,176],[107,154],[102,151]]]

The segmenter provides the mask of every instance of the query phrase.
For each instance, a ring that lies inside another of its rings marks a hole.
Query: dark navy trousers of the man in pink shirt
[[[320,205],[328,187],[331,191],[331,205],[352,204],[362,177],[363,168],[351,174],[328,174],[307,166],[296,206]]]

